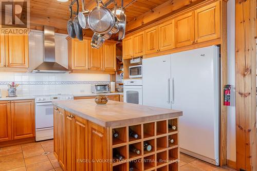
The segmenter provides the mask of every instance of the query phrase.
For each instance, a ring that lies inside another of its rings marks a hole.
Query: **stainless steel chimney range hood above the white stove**
[[[33,73],[69,73],[70,71],[56,62],[54,49],[54,27],[44,26],[44,62]]]

